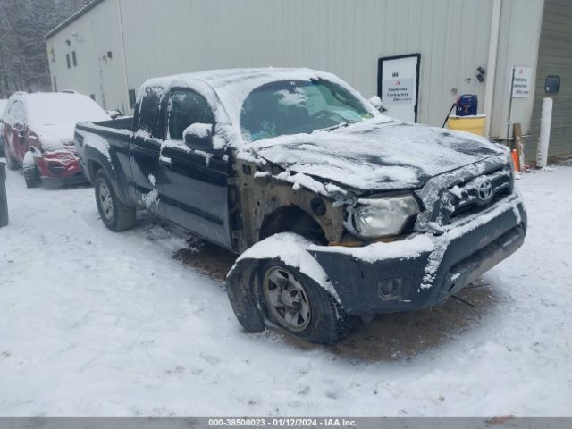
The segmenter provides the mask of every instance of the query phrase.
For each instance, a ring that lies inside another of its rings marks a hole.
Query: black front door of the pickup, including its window
[[[191,147],[183,140],[183,131],[191,123],[214,124],[213,109],[205,97],[186,88],[173,89],[168,106],[168,141],[160,158],[167,218],[207,240],[231,248],[229,158],[223,150]]]

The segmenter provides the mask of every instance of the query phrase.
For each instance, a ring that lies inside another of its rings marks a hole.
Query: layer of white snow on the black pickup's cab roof
[[[306,68],[253,68],[253,69],[225,69],[213,71],[198,71],[162,78],[146,80],[139,89],[138,99],[147,88],[162,88],[168,92],[171,88],[192,88],[207,98],[210,105],[216,109],[223,105],[225,113],[231,123],[238,126],[240,123],[240,109],[248,94],[254,89],[279,80],[329,80],[347,88],[355,97],[362,101],[371,114],[378,115],[373,106],[366,102],[355,89],[332,73],[315,71]],[[217,114],[217,112],[214,112]],[[221,117],[217,116],[220,121]]]

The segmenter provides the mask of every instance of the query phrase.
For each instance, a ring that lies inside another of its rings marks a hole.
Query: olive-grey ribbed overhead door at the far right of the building
[[[558,94],[546,94],[548,75],[560,77]],[[536,97],[526,157],[534,159],[540,135],[541,105],[544,97],[554,100],[552,107],[550,156],[572,154],[572,2],[546,0],[538,53]]]

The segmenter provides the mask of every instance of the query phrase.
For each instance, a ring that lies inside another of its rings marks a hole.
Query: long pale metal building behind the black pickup
[[[536,132],[540,82],[558,48],[545,29],[552,8],[558,25],[572,28],[569,0],[94,0],[50,31],[46,46],[54,89],[108,109],[128,112],[148,77],[304,66],[338,74],[365,97],[379,94],[389,114],[411,122],[441,126],[458,95],[476,94],[487,133],[505,139],[509,110],[525,134]],[[521,88],[511,99],[514,67]],[[398,84],[407,97],[390,100]],[[558,147],[572,153],[572,139]]]

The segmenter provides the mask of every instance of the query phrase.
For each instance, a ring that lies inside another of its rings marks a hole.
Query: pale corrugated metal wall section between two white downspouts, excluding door
[[[441,125],[484,83],[492,0],[120,0],[129,88],[147,77],[226,67],[332,71],[365,97],[377,60],[421,54],[419,122]]]

